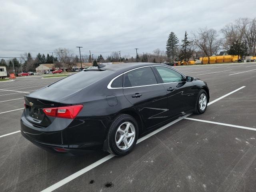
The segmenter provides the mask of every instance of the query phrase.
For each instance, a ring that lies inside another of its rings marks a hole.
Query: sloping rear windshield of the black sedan
[[[82,89],[106,76],[112,74],[110,70],[86,70],[78,72],[74,75],[70,75],[58,82],[50,85],[51,88],[64,88],[68,90],[79,90]]]

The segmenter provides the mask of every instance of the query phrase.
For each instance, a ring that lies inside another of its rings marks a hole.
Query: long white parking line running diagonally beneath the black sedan
[[[230,93],[228,93],[228,94],[226,94],[226,95],[224,95],[224,96],[222,96],[222,97],[220,97],[220,98],[218,98],[218,99],[216,99],[216,100],[213,100],[213,101],[210,102],[208,105],[213,104],[214,102],[216,102],[216,101],[218,101],[218,100],[220,100],[220,99],[222,99],[222,98],[224,98],[224,97],[226,97],[226,96],[228,96],[228,95],[230,95],[230,94],[232,94],[232,93],[234,93],[234,92],[236,92],[236,91],[238,91],[238,90],[240,90],[240,89],[242,89],[242,88],[244,88],[244,87],[245,87],[245,86],[240,87],[240,88],[237,89],[237,90],[234,90],[234,91],[232,91],[232,92],[230,92]],[[169,124],[167,124],[167,125],[165,125],[165,126],[159,128],[158,130],[155,130],[155,131],[153,131],[152,133],[149,133],[148,135],[146,135],[146,136],[144,136],[144,137],[138,139],[138,141],[137,141],[136,144],[138,144],[138,143],[144,141],[145,139],[149,138],[150,136],[153,136],[154,134],[156,134],[156,133],[158,133],[158,132],[164,130],[164,129],[167,128],[168,126],[170,126],[170,125],[172,125],[172,124],[175,124],[176,122],[179,122],[179,121],[182,120],[182,119],[187,118],[187,117],[190,116],[190,115],[191,115],[191,113],[186,114],[186,115],[184,115],[184,116],[182,116],[182,117],[180,117],[180,118],[174,120],[173,122],[170,122]],[[114,155],[110,154],[110,155],[108,155],[108,156],[106,156],[106,157],[104,157],[104,158],[102,158],[102,159],[96,161],[95,163],[93,163],[93,164],[91,164],[91,165],[89,165],[89,166],[87,166],[87,167],[81,169],[80,171],[75,172],[74,174],[72,174],[72,175],[70,175],[70,176],[68,176],[68,177],[66,177],[66,178],[64,178],[64,179],[62,179],[62,180],[60,180],[59,182],[57,182],[57,183],[53,184],[52,186],[50,186],[50,187],[48,187],[48,188],[42,190],[41,192],[52,192],[53,190],[56,190],[57,188],[63,186],[64,184],[66,184],[66,183],[68,183],[68,182],[74,180],[75,178],[81,176],[82,174],[84,174],[84,173],[86,173],[86,172],[92,170],[92,169],[95,168],[96,166],[98,166],[98,165],[100,165],[100,164],[106,162],[107,160],[110,160],[112,157],[114,157]]]

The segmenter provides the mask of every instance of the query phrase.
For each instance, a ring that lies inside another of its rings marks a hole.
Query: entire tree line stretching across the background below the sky
[[[181,43],[181,44],[180,44]],[[189,36],[185,31],[184,38],[178,39],[174,32],[170,32],[167,42],[166,51],[159,48],[153,50],[152,53],[137,54],[136,57],[122,57],[120,52],[114,51],[109,56],[81,55],[82,63],[92,63],[97,66],[99,62],[172,62],[172,61],[188,61],[190,58],[209,57],[216,55],[218,51],[225,50],[230,55],[244,56],[256,55],[256,18],[238,18],[234,22],[228,23],[217,32],[210,28],[200,28],[196,32],[191,32]],[[20,62],[17,58],[13,58],[9,62],[1,59],[0,66],[18,71],[35,71],[40,64],[52,64],[55,68],[67,68],[72,70],[73,66],[80,62],[78,55],[67,48],[58,48],[53,53],[38,53],[35,58],[28,52],[20,56]]]

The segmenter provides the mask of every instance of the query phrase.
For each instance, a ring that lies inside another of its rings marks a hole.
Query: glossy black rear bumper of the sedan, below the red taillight
[[[36,146],[59,154],[79,155],[103,148],[106,137],[106,130],[103,127],[95,127],[95,124],[85,120],[82,122],[88,123],[87,125],[81,124],[81,120],[72,120],[66,124],[68,126],[63,126],[66,119],[58,118],[56,121],[52,125],[62,126],[39,128],[29,122],[23,112],[20,120],[21,134]],[[66,151],[58,152],[56,148],[63,148]]]

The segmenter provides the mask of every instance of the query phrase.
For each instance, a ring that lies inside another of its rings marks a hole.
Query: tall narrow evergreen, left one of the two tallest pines
[[[174,61],[174,57],[176,56],[178,43],[179,43],[178,37],[174,32],[171,32],[166,42],[166,54],[169,59],[170,57],[172,57],[172,61]]]

